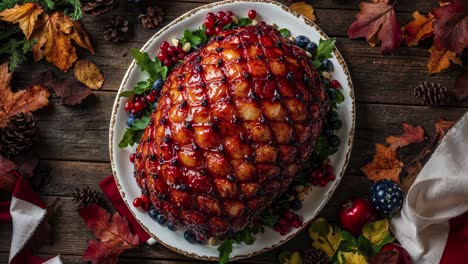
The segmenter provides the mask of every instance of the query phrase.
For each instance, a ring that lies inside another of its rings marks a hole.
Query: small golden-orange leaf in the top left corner
[[[15,5],[13,8],[0,12],[0,20],[18,23],[26,38],[29,39],[34,30],[36,20],[42,12],[42,7],[38,4],[26,3],[24,5]]]

